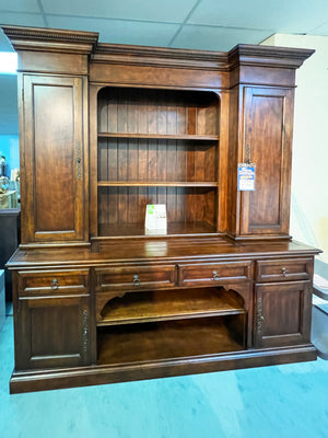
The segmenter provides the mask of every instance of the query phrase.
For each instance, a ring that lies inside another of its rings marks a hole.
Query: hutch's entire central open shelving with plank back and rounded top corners
[[[97,96],[97,237],[215,233],[220,100],[210,91],[104,88]]]

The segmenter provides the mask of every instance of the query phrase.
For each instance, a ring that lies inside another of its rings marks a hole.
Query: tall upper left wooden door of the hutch
[[[22,243],[84,235],[83,79],[24,74]]]

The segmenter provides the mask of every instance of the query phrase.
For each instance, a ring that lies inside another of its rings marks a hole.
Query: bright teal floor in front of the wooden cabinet
[[[9,394],[12,316],[0,331],[1,438],[327,438],[328,361]]]

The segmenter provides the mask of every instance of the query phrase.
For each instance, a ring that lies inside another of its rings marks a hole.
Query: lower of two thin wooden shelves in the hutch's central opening
[[[98,181],[98,187],[218,187],[215,181],[160,182],[160,181]]]

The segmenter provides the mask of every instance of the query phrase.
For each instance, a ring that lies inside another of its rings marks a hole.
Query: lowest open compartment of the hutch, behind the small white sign
[[[216,187],[98,187],[98,235],[144,234],[149,204],[165,204],[167,234],[215,232],[216,192]]]

